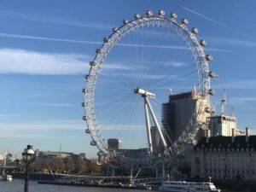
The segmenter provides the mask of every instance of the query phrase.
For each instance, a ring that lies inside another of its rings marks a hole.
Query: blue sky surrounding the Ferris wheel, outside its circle
[[[96,154],[81,119],[88,61],[113,26],[148,9],[176,12],[199,28],[238,126],[255,133],[254,1],[1,1],[0,154],[20,154],[26,144]]]

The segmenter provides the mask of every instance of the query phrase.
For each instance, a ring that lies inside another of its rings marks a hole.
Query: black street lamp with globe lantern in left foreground
[[[22,152],[22,159],[26,163],[26,177],[25,177],[25,186],[24,186],[24,192],[28,192],[28,179],[29,179],[29,164],[32,163],[33,160],[35,160],[35,151],[32,149],[32,145],[27,145],[24,149],[24,152]]]

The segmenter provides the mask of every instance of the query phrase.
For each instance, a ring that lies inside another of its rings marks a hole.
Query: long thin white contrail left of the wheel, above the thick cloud
[[[44,41],[59,41],[59,42],[76,43],[76,44],[102,44],[100,42],[95,42],[95,41],[82,41],[82,40],[66,39],[66,38],[44,38],[44,37],[38,37],[38,36],[18,35],[18,34],[10,34],[10,33],[3,33],[3,32],[0,32],[0,37],[24,38],[24,39],[44,40]]]

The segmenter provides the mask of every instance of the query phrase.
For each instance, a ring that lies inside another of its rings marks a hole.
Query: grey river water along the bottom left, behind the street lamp
[[[0,192],[23,192],[24,180],[14,179],[12,182],[0,181]],[[52,184],[38,184],[36,181],[29,181],[29,192],[143,192],[139,189],[106,189],[91,187],[74,187]]]

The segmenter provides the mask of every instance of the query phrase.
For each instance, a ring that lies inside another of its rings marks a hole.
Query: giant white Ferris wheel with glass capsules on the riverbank
[[[166,16],[163,10],[153,15],[134,15],[113,27],[96,55],[90,61],[85,75],[84,117],[90,134],[90,144],[99,150],[104,162],[116,160],[118,152],[108,146],[108,139],[118,138],[122,148],[147,148],[146,157],[123,160],[157,158],[154,153],[154,128],[159,135],[162,151],[175,155],[184,142],[195,137],[196,117],[206,111],[204,105],[191,115],[187,128],[175,141],[166,137],[163,129],[162,103],[168,102],[170,89],[174,93],[196,92],[208,99],[214,94],[210,79],[214,73],[208,68],[212,55],[206,55],[206,40],[197,40],[197,28],[188,28],[189,21],[177,21],[177,15]]]

